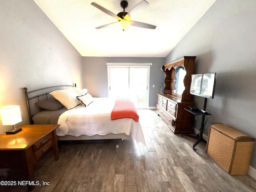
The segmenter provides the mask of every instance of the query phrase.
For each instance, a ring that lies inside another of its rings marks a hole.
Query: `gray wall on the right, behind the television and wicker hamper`
[[[256,1],[217,0],[168,54],[197,56],[196,73],[216,72],[214,99],[207,108],[213,122],[256,138]],[[203,98],[194,96],[198,107]],[[210,118],[209,122],[212,122]],[[196,124],[199,128],[199,124]],[[208,125],[206,125],[206,134]],[[256,168],[256,147],[250,164]]]

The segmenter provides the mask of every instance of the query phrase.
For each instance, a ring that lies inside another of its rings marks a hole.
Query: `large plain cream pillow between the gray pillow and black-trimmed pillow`
[[[67,109],[72,109],[80,105],[80,102],[76,99],[76,94],[71,90],[68,90],[68,89],[56,90],[56,91],[50,92],[50,95],[52,95]]]

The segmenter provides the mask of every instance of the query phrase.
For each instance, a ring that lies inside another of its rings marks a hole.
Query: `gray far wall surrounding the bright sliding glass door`
[[[149,106],[156,107],[156,94],[160,93],[161,82],[164,84],[164,72],[160,69],[164,65],[164,60],[165,58],[83,57],[83,85],[94,97],[108,97],[106,63],[152,63]],[[153,85],[155,85],[154,88]]]

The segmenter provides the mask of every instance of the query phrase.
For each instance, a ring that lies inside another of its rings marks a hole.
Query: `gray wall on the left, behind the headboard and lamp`
[[[19,105],[29,124],[23,87],[82,86],[82,56],[33,0],[0,2],[0,107]],[[2,126],[0,133],[12,129]]]

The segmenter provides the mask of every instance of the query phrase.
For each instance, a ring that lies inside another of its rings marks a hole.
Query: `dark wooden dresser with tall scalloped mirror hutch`
[[[191,134],[194,130],[194,115],[184,108],[194,105],[189,90],[195,59],[196,56],[183,56],[162,66],[165,87],[164,94],[158,94],[156,113],[174,134]]]

